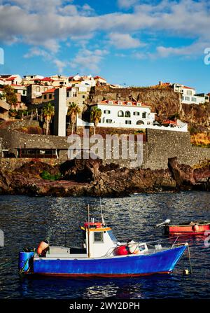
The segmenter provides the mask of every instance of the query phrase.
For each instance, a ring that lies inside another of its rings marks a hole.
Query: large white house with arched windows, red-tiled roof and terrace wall
[[[104,100],[97,104],[92,104],[91,109],[100,109],[102,117],[98,127],[135,128],[141,130],[145,128],[155,128],[161,130],[188,131],[185,123],[177,120],[168,123],[167,126],[155,123],[155,113],[151,112],[151,107],[142,102]],[[77,119],[77,126],[93,126],[80,118]]]

